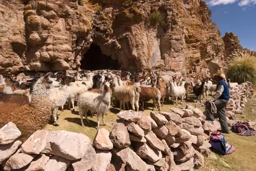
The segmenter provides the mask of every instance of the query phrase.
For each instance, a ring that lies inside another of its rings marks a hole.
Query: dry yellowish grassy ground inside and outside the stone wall
[[[204,109],[203,103],[192,103],[192,102],[183,102],[182,105],[178,105],[180,107],[185,107],[186,104],[193,105],[195,107],[199,107],[200,109]],[[246,107],[244,108],[244,116],[246,118],[242,118],[241,116],[237,116],[240,120],[256,120],[256,98],[253,97],[248,99],[248,103],[246,103]],[[161,107],[161,111],[169,111],[170,107],[175,107],[177,105],[172,105],[172,102],[165,102],[164,107]],[[77,133],[84,133],[90,140],[93,140],[94,136],[97,133],[97,116],[93,118],[88,117],[88,122],[84,118],[85,127],[81,127],[81,121],[78,114],[77,107],[76,111],[72,112],[71,110],[64,109],[64,111],[58,112],[58,124],[59,127],[54,127],[51,124],[48,124],[46,129],[49,131],[54,130],[66,130],[73,131]],[[144,113],[150,114],[152,109],[152,105],[150,103],[146,104],[146,109]],[[105,116],[106,125],[102,125],[102,120],[100,127],[105,128],[110,131],[116,122],[116,114],[119,109],[116,107],[112,107],[107,115]],[[226,171],[226,170],[238,170],[238,171],[248,171],[248,170],[256,170],[256,136],[244,137],[241,135],[236,135],[235,133],[231,133],[229,135],[225,134],[226,139],[231,142],[236,147],[234,153],[230,155],[220,156],[216,155],[217,159],[209,159],[205,157],[205,165],[199,168],[199,171],[209,171],[214,169]]]

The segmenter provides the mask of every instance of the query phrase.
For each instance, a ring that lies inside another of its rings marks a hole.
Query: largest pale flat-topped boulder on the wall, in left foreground
[[[42,153],[57,155],[69,160],[81,159],[90,143],[90,138],[82,133],[52,131],[47,137],[47,146]]]

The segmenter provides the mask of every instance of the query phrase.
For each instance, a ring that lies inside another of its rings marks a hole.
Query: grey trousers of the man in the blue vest
[[[222,132],[228,132],[229,128],[227,126],[227,118],[226,118],[226,106],[228,101],[225,99],[218,99],[214,101],[214,104],[217,108],[217,116],[220,120],[220,126]]]

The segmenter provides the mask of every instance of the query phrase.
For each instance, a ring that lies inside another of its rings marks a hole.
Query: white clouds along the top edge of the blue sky
[[[238,5],[240,5],[240,6],[256,4],[256,0],[209,0],[209,1],[207,1],[207,3],[211,6],[228,5],[228,4],[236,3],[236,2],[238,2]]]

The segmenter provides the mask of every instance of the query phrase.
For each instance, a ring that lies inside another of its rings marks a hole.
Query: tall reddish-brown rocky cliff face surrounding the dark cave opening
[[[199,0],[12,0],[0,10],[0,73],[77,69],[92,43],[125,70],[225,66],[220,31]]]

